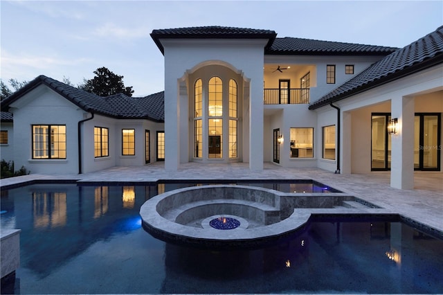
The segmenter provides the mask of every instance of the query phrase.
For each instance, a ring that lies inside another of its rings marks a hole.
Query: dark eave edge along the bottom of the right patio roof
[[[420,62],[419,64],[409,66],[406,69],[403,69],[403,70],[398,71],[396,73],[392,73],[390,75],[387,75],[386,77],[372,81],[368,84],[364,84],[361,87],[357,87],[356,89],[352,89],[352,90],[347,91],[345,93],[341,93],[338,96],[328,98],[327,100],[323,100],[321,102],[318,102],[317,104],[314,103],[313,105],[309,105],[308,109],[318,109],[320,107],[324,107],[325,105],[329,105],[332,102],[337,102],[338,100],[350,98],[351,96],[354,96],[358,93],[362,93],[364,91],[368,91],[368,90],[373,89],[375,87],[379,87],[383,84],[387,84],[389,82],[399,80],[400,78],[404,78],[407,75],[412,75],[413,73],[423,71],[423,70],[428,69],[432,66],[436,66],[436,65],[442,64],[442,63],[443,63],[443,53],[440,53],[439,55],[437,55],[429,60],[426,60],[424,62]]]

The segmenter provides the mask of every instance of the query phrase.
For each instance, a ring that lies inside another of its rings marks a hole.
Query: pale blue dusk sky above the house
[[[278,37],[404,47],[443,24],[443,1],[0,1],[0,78],[73,84],[105,66],[134,96],[163,91],[160,28],[234,26]]]

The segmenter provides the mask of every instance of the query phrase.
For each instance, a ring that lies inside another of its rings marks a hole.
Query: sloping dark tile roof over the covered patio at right
[[[443,26],[440,26],[433,33],[429,33],[375,62],[359,75],[312,102],[309,109],[329,105],[331,102],[348,98],[356,93],[361,93],[442,63]]]

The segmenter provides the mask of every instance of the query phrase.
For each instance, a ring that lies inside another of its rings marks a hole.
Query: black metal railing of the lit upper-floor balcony
[[[263,89],[264,105],[296,105],[309,103],[309,88]]]

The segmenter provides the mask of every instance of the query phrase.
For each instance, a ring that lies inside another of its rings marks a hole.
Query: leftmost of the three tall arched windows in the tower
[[[203,116],[203,91],[201,79],[195,81],[194,84],[194,157],[201,158],[203,156],[203,130],[201,125],[201,117]]]

